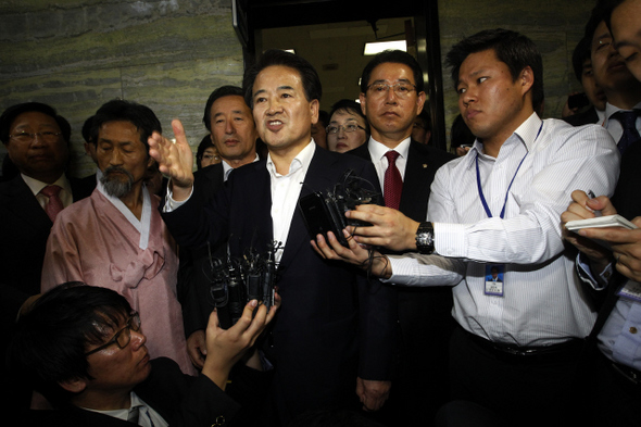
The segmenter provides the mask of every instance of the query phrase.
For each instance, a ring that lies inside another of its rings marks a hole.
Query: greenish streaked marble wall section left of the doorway
[[[218,86],[240,85],[242,50],[229,0],[3,0],[0,111],[25,101],[58,109],[72,124],[72,175],[93,172],[80,129],[104,102],[150,106],[163,130],[180,118],[193,149],[204,104]],[[0,158],[4,155],[0,149]]]

